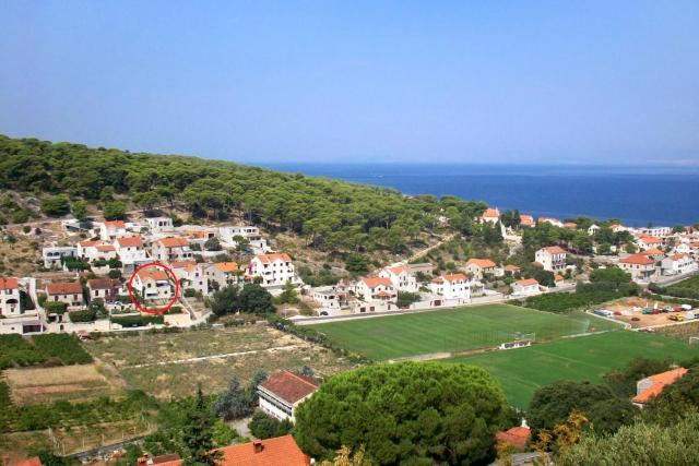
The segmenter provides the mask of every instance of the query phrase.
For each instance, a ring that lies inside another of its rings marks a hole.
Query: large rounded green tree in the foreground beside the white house
[[[384,363],[328,379],[298,407],[294,433],[317,458],[364,445],[377,464],[487,464],[505,411],[502,390],[483,369]]]

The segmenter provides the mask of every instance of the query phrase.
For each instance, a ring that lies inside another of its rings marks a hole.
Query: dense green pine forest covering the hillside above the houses
[[[117,199],[130,199],[143,208],[177,203],[196,217],[225,218],[235,210],[248,222],[294,231],[311,247],[328,251],[400,252],[420,231],[437,227],[443,208],[454,215],[458,227],[485,208],[483,203],[457,198],[407,198],[386,188],[229,162],[3,135],[0,189],[103,202],[110,218],[123,216]],[[68,213],[67,201],[56,203],[58,210],[49,207],[50,215]]]

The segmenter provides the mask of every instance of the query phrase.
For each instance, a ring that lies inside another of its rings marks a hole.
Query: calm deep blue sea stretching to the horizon
[[[699,169],[677,167],[272,164],[269,168],[453,194],[535,216],[618,218],[626,225],[699,222]]]

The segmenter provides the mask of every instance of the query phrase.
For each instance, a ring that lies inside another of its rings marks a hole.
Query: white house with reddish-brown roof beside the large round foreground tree
[[[296,407],[318,390],[318,382],[309,377],[283,371],[270,375],[258,385],[260,409],[279,420],[294,422]]]

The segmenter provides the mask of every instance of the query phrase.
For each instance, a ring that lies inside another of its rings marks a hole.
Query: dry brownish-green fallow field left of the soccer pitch
[[[85,342],[93,357],[112,367],[129,389],[161,399],[223,391],[236,375],[241,383],[258,370],[272,373],[309,366],[318,375],[351,369],[327,348],[266,325],[108,336]]]

